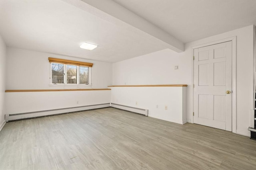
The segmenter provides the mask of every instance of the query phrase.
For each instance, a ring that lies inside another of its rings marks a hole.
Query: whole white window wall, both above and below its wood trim
[[[112,84],[112,64],[89,61],[24,49],[7,48],[6,90],[74,89],[73,86],[50,86],[48,57],[94,63],[92,87],[107,88]],[[6,92],[5,114],[44,111],[67,107],[110,103],[110,90],[65,92]]]

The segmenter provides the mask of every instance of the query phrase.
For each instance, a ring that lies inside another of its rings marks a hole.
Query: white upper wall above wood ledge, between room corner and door
[[[175,65],[178,70],[174,70]],[[165,49],[114,63],[113,85],[188,84],[189,66],[184,53]]]

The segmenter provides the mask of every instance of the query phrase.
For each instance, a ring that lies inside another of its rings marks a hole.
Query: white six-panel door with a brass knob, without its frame
[[[232,41],[194,49],[194,123],[232,131]]]

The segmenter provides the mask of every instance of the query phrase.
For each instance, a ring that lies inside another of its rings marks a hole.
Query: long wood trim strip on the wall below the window
[[[49,89],[49,90],[5,90],[5,92],[62,92],[62,91],[91,91],[91,90],[111,90],[111,89],[90,88],[90,89]]]

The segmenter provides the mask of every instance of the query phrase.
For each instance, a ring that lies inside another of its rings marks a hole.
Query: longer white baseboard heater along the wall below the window
[[[63,113],[72,113],[76,111],[100,109],[105,107],[110,107],[110,103],[94,104],[94,105],[78,106],[78,107],[68,107],[68,108],[52,109],[52,110],[44,110],[44,111],[34,111],[34,112],[28,112],[28,113],[6,114],[5,121],[8,122],[13,120],[28,119],[33,117],[42,117],[42,116],[49,116],[49,115],[56,115],[56,114],[63,114]]]

